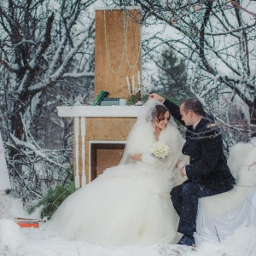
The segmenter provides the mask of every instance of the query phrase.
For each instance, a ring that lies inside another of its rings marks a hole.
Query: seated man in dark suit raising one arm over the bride
[[[172,116],[187,127],[183,154],[189,155],[189,165],[177,162],[179,172],[187,180],[171,191],[172,204],[180,217],[177,231],[183,234],[178,244],[195,245],[194,232],[198,199],[224,193],[236,183],[224,156],[220,131],[212,115],[205,113],[195,98],[177,105],[169,100],[151,94],[151,99],[163,102]]]

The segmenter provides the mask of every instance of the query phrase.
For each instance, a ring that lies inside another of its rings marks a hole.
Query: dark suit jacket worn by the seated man
[[[179,108],[174,103],[164,102],[172,116],[185,125]],[[183,154],[189,155],[190,162],[186,166],[186,174],[189,178],[185,183],[201,183],[217,194],[232,189],[236,183],[230,173],[224,156],[222,136],[211,115],[205,116],[196,125],[187,126],[186,143],[183,146]]]

